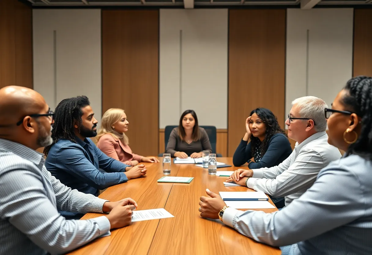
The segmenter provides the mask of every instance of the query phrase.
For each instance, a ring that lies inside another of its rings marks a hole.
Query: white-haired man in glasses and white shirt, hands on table
[[[321,169],[341,158],[339,149],[328,144],[325,132],[327,104],[317,97],[301,97],[292,102],[286,125],[288,137],[296,141],[292,154],[279,166],[238,169],[227,181],[263,191],[273,198],[285,197],[285,205],[312,186]]]

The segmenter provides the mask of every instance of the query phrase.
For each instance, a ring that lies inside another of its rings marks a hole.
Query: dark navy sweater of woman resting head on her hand
[[[269,141],[269,146],[259,162],[249,162],[253,157],[251,153],[251,143],[241,140],[238,148],[232,157],[234,166],[241,166],[248,162],[250,169],[259,169],[262,167],[278,166],[292,153],[292,147],[288,138],[282,134],[275,134]]]

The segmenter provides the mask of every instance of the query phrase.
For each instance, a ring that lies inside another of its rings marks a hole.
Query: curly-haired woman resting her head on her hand
[[[232,163],[241,166],[248,162],[250,169],[273,167],[282,163],[291,153],[287,135],[272,111],[257,108],[246,119],[246,133],[235,150]]]

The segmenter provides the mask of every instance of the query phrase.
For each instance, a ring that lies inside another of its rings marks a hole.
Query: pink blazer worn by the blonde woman
[[[142,156],[134,154],[128,145],[124,145],[119,139],[114,138],[110,134],[101,136],[97,142],[97,147],[109,157],[129,166],[132,165],[131,160],[141,161]]]

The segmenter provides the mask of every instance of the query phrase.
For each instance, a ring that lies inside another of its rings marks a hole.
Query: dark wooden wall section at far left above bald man
[[[17,0],[0,1],[0,88],[32,88],[32,9]]]

